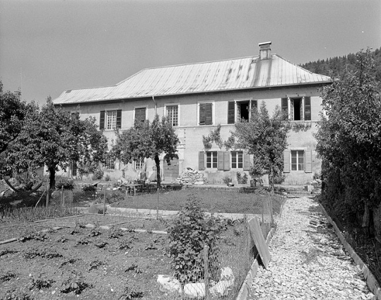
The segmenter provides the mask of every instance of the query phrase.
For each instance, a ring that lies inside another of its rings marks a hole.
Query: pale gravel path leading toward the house
[[[374,297],[315,200],[287,200],[270,253],[269,268],[259,267],[248,300]]]

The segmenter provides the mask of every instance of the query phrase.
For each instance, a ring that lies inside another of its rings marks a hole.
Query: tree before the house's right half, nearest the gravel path
[[[250,169],[252,176],[269,174],[271,193],[274,193],[274,179],[282,176],[283,151],[287,147],[287,133],[290,130],[288,118],[276,106],[269,116],[266,104],[262,102],[259,111],[252,109],[250,120],[235,124],[232,136],[236,148],[247,149],[253,155]]]

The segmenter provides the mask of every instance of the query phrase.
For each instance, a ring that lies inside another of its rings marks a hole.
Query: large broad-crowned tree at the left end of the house
[[[32,109],[7,155],[7,164],[17,173],[47,166],[49,187],[55,186],[58,168],[66,169],[71,161],[86,164],[104,162],[107,139],[97,130],[95,119],[81,120],[54,107],[48,98],[41,111]]]

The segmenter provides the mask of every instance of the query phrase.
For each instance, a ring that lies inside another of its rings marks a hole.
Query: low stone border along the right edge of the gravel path
[[[369,268],[363,260],[360,258],[360,256],[357,255],[357,253],[353,250],[352,246],[346,241],[344,235],[341,233],[339,227],[337,227],[334,220],[332,220],[331,217],[329,217],[327,211],[324,209],[323,205],[319,203],[320,208],[322,208],[322,212],[324,213],[325,217],[327,217],[327,220],[329,223],[332,224],[334,227],[334,230],[336,232],[336,235],[339,237],[341,244],[346,248],[346,251],[349,253],[351,258],[354,260],[356,265],[358,265],[361,269],[361,272],[363,272],[363,275],[366,280],[366,284],[368,284],[368,288],[370,289],[373,294],[375,294],[377,300],[381,300],[381,288],[378,284],[377,280],[375,279],[375,276],[370,272]]]

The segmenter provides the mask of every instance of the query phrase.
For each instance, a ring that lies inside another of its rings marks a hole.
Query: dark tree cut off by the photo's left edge
[[[0,154],[17,138],[23,126],[28,105],[20,97],[19,90],[3,92],[0,81]]]

